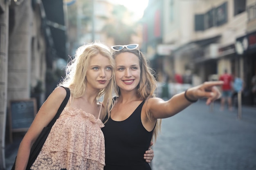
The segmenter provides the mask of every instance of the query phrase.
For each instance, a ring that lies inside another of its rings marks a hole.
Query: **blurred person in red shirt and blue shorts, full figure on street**
[[[229,110],[232,111],[232,86],[231,82],[233,81],[233,77],[231,74],[227,73],[227,69],[225,69],[224,74],[220,75],[219,80],[223,81],[222,84],[222,97],[221,97],[221,110],[224,110],[225,100],[227,99]]]

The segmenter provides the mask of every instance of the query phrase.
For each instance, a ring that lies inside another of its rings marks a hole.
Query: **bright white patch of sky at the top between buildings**
[[[111,0],[117,4],[124,5],[129,11],[132,11],[135,18],[140,19],[143,16],[144,9],[148,6],[148,0]]]

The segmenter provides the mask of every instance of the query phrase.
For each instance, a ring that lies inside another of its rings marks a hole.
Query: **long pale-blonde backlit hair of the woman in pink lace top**
[[[86,72],[88,71],[88,66],[90,60],[93,56],[101,54],[110,60],[110,65],[112,66],[112,75],[110,82],[99,91],[97,99],[104,95],[103,106],[106,109],[105,114],[109,113],[112,101],[112,89],[114,86],[114,73],[115,73],[115,60],[112,57],[110,48],[101,42],[93,42],[80,46],[76,50],[76,54],[73,60],[67,64],[66,76],[58,84],[58,86],[66,86],[70,88],[70,93],[74,98],[81,97],[86,92]],[[106,115],[104,115],[106,117]]]

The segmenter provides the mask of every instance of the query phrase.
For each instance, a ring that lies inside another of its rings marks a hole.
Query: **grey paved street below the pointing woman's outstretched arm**
[[[256,108],[213,112],[199,101],[163,119],[153,170],[256,170]]]

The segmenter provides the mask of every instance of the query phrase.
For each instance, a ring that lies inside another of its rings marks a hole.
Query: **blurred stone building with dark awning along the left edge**
[[[62,0],[0,1],[0,170],[5,169],[10,100],[45,100],[46,73],[67,58]],[[53,90],[53,89],[51,89]]]

